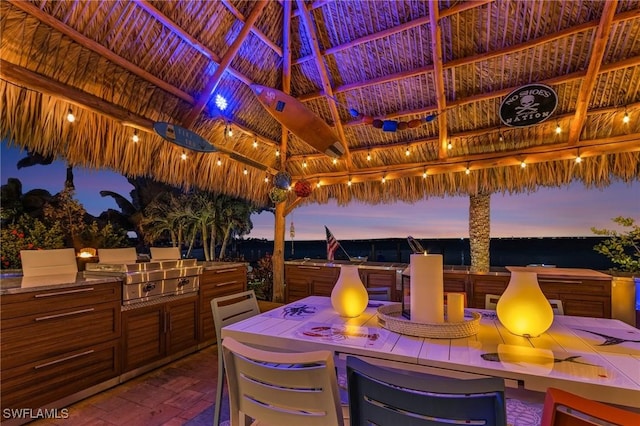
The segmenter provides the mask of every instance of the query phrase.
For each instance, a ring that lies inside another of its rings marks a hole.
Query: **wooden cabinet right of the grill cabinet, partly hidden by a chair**
[[[204,345],[216,341],[216,330],[211,313],[211,300],[216,297],[240,293],[247,289],[247,267],[232,264],[205,269],[200,275],[200,342]]]

